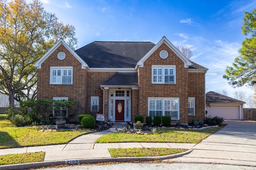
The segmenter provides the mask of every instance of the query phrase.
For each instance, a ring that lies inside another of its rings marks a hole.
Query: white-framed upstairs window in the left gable
[[[72,84],[73,67],[51,67],[50,84]]]

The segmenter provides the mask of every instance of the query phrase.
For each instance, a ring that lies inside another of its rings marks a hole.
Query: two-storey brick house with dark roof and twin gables
[[[80,101],[83,114],[101,113],[105,121],[205,117],[208,69],[186,59],[166,37],[157,44],[94,41],[76,51],[60,40],[35,66],[38,98]]]

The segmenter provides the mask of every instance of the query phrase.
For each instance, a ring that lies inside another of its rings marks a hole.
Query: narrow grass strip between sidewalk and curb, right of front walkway
[[[187,149],[172,148],[122,148],[108,149],[113,158],[117,157],[142,157],[142,156],[163,156],[185,152]]]

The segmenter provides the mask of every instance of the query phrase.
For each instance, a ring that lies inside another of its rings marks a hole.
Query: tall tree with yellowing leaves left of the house
[[[14,99],[36,97],[34,63],[62,38],[73,49],[75,28],[46,12],[39,0],[0,0],[0,93]]]

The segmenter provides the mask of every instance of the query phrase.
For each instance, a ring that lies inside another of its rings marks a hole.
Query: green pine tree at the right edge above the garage
[[[233,66],[227,66],[224,78],[233,87],[256,84],[256,8],[246,11],[243,18],[242,34],[247,35],[239,49]]]

